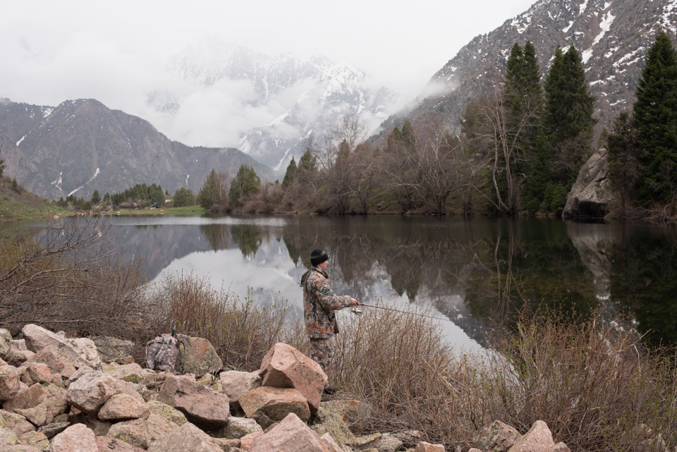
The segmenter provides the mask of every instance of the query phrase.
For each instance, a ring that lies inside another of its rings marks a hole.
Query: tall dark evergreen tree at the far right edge
[[[633,106],[640,147],[638,204],[674,202],[677,197],[677,54],[659,30],[647,52]]]

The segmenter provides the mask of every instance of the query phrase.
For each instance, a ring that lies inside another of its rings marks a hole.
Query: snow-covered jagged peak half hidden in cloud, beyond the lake
[[[248,130],[238,148],[279,171],[286,169],[291,157],[298,161],[311,134],[322,137],[350,114],[360,114],[369,126],[377,126],[393,113],[398,97],[384,87],[372,87],[368,75],[354,66],[324,57],[267,56],[217,39],[185,49],[171,59],[169,68],[183,80],[201,85],[248,82],[246,106],[267,106],[275,114]],[[150,101],[159,111],[180,107],[171,93],[154,93]]]

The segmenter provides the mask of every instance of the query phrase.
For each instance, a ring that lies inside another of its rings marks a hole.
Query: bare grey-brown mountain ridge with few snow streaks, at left
[[[92,99],[56,107],[0,99],[0,157],[6,173],[37,195],[89,198],[137,183],[197,192],[209,171],[235,176],[241,164],[262,180],[272,171],[238,149],[188,147],[150,123]]]

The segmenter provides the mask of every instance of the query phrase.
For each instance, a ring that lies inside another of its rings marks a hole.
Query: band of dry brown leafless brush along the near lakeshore
[[[138,267],[102,255],[106,231],[95,218],[60,221],[51,231],[39,243],[2,243],[0,326],[13,334],[36,323],[130,339],[142,362],[146,341],[176,324],[209,339],[225,367],[243,371],[257,369],[279,341],[308,351],[283,304],[262,306],[252,293],[228,293],[190,274],[146,287]],[[374,408],[355,429],[420,430],[447,450],[467,450],[492,420],[520,433],[544,420],[573,451],[630,450],[657,435],[677,445],[675,367],[665,350],[647,351],[636,332],[594,316],[571,322],[524,313],[495,331],[491,353],[470,355],[415,312],[368,310],[341,324],[329,379]]]

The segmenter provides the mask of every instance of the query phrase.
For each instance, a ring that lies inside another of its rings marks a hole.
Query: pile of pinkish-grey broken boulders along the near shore
[[[185,374],[143,369],[114,338],[66,338],[26,325],[0,329],[3,452],[444,451],[417,432],[355,436],[370,415],[359,401],[322,401],[327,375],[276,344],[256,372],[219,372],[203,338],[183,336]],[[133,344],[132,344],[133,345]],[[98,350],[98,348],[102,350]],[[472,451],[567,451],[543,422],[520,436],[494,422]],[[409,447],[409,448],[407,448]]]

